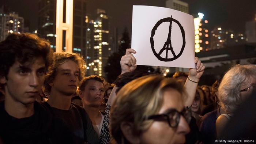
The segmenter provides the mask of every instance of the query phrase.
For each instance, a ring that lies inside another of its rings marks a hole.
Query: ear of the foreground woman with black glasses
[[[132,124],[129,122],[121,122],[120,128],[124,134],[125,139],[127,139],[131,144],[139,144],[139,136],[132,132]]]

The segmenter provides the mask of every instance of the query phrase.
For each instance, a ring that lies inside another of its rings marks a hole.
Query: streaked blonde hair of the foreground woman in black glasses
[[[124,143],[122,141],[125,140],[120,128],[121,122],[131,123],[135,135],[149,128],[153,120],[145,119],[161,109],[166,88],[173,88],[184,96],[180,83],[160,75],[143,76],[121,88],[110,113],[110,129],[117,143]]]

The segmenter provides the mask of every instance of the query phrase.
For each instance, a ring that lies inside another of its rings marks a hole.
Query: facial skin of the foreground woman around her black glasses
[[[184,105],[182,96],[173,88],[163,92],[163,105],[158,114],[166,113],[170,109],[182,111]],[[154,121],[153,124],[140,136],[142,144],[182,144],[185,143],[185,134],[189,133],[189,126],[183,116],[177,128],[171,128],[167,121]]]

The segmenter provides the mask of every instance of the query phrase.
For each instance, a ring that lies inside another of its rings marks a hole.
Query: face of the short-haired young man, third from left
[[[84,105],[99,107],[103,102],[104,86],[97,80],[88,80],[84,91],[80,91],[80,97],[83,98]]]

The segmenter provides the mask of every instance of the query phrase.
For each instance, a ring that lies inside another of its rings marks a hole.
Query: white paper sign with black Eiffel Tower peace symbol
[[[138,65],[195,68],[193,16],[170,8],[133,5],[132,49]]]

